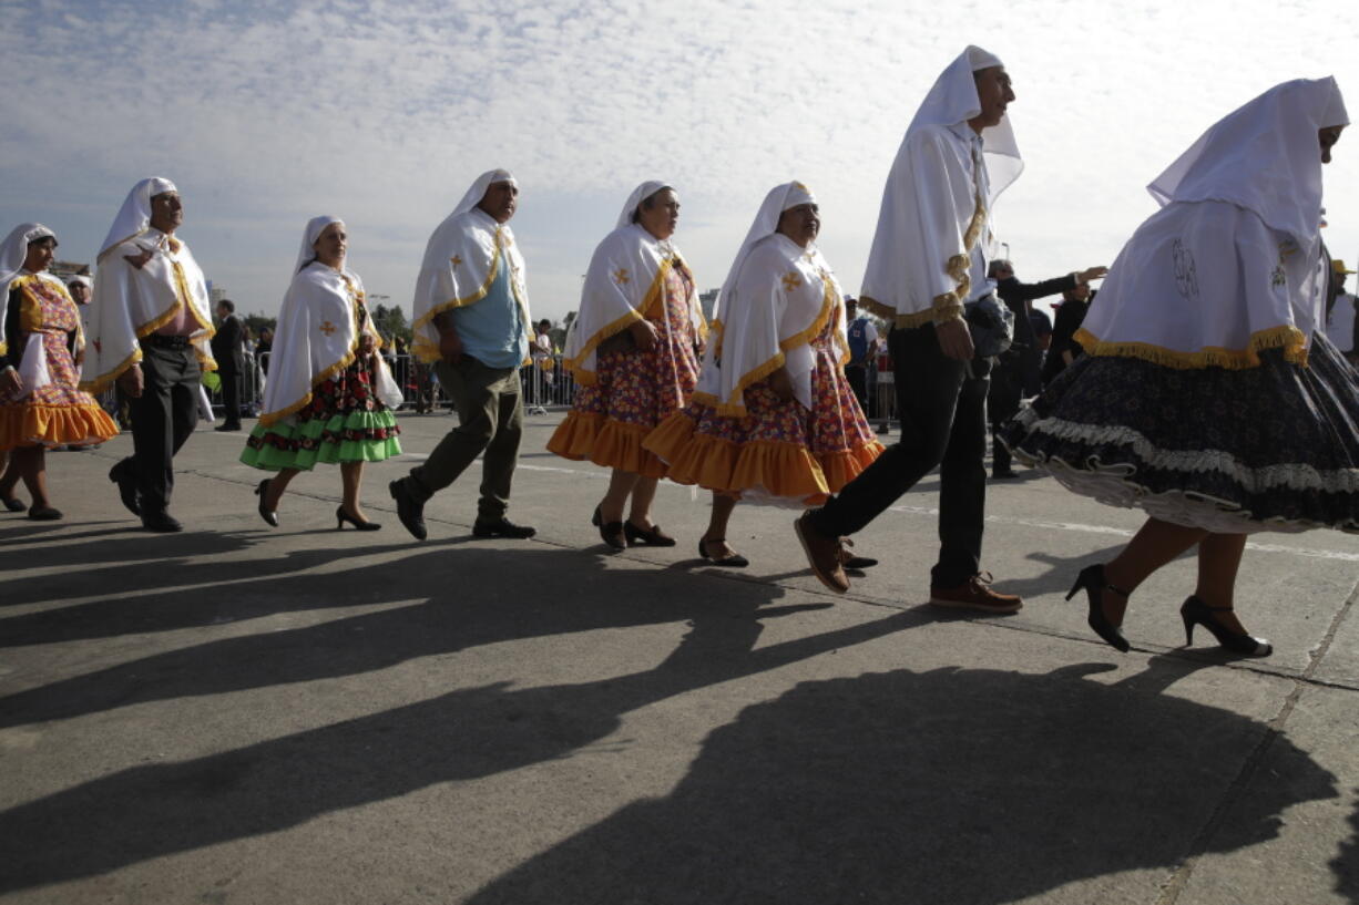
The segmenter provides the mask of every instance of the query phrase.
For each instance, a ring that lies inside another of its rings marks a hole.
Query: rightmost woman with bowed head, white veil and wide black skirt
[[[1333,79],[1298,79],[1208,129],[1148,186],[1165,207],[1113,262],[1076,333],[1086,355],[1006,428],[1021,461],[1147,512],[1071,591],[1121,651],[1128,597],[1197,546],[1186,644],[1203,625],[1269,655],[1233,611],[1246,535],[1359,531],[1359,379],[1321,329],[1318,232],[1321,164],[1348,121]]]

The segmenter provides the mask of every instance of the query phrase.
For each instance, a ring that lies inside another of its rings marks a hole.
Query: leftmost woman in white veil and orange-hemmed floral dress
[[[37,520],[61,518],[48,499],[48,447],[91,446],[118,432],[77,389],[84,334],[67,287],[46,272],[56,249],[57,236],[38,223],[15,227],[0,246],[0,451],[10,451],[0,501],[22,511],[14,496],[22,480]]]

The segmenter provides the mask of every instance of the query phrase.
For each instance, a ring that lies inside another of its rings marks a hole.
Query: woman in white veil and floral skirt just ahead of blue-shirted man
[[[708,332],[693,273],[670,242],[678,221],[673,188],[652,181],[632,190],[617,227],[590,260],[580,313],[567,336],[567,366],[579,389],[548,448],[613,469],[593,523],[616,550],[675,544],[651,519],[666,465],[643,440],[689,404],[699,382],[697,349]]]

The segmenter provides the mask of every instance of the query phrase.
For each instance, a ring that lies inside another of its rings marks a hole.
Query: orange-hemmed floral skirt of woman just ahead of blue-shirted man
[[[697,382],[697,357],[682,344],[658,341],[650,352],[601,353],[595,383],[576,389],[548,450],[576,462],[667,477],[666,463],[641,442],[685,406]]]

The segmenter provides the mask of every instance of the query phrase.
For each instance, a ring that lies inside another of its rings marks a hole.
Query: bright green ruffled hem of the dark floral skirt
[[[310,472],[318,462],[382,462],[401,455],[400,431],[395,416],[386,409],[314,419],[300,427],[292,421],[255,424],[241,462],[265,472]]]

